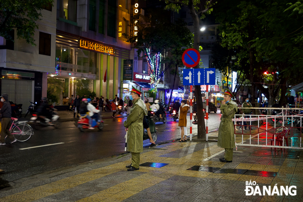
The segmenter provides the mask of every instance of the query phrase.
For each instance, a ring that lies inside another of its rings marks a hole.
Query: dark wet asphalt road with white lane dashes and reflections
[[[209,117],[209,130],[218,128],[220,111],[217,114],[211,113]],[[189,117],[187,119],[189,135]],[[35,134],[26,142],[0,146],[0,168],[6,170],[0,177],[11,182],[33,174],[124,153],[125,120],[126,118],[104,119],[102,131],[95,128],[80,132],[74,121],[62,122],[61,129],[48,127],[41,131],[35,130]],[[197,125],[193,125],[193,133],[196,128]],[[169,114],[165,124],[156,122],[156,130],[156,144],[180,138],[178,120],[174,122]],[[47,144],[54,145],[36,147]],[[149,140],[143,141],[143,147],[150,146]],[[28,149],[20,150],[22,148]]]

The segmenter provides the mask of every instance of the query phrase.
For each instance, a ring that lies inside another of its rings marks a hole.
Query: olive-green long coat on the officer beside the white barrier
[[[235,147],[235,129],[232,118],[238,107],[234,101],[229,101],[227,104],[221,105],[220,110],[222,117],[218,133],[218,147],[231,149]]]

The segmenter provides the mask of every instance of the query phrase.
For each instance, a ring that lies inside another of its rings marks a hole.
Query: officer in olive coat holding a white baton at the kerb
[[[147,109],[141,94],[136,88],[131,90],[133,107],[124,122],[125,131],[128,128],[126,150],[131,152],[131,164],[126,166],[128,171],[139,170],[140,152],[143,152],[143,117],[147,115]]]

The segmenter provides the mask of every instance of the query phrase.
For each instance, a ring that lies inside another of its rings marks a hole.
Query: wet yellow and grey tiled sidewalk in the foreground
[[[0,191],[0,201],[303,201],[301,150],[238,147],[232,163],[218,160],[222,150],[216,142],[163,144],[141,153],[145,166],[139,171],[126,171],[128,154]],[[297,196],[245,196],[250,180],[259,186],[295,185]]]

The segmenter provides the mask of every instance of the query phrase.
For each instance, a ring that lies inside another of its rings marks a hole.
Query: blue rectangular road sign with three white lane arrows
[[[216,69],[183,69],[183,85],[215,85]]]

